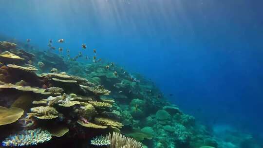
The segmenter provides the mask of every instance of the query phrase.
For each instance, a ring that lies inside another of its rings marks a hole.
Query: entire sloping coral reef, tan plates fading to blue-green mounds
[[[3,146],[77,139],[79,148],[223,148],[141,74],[26,47],[0,42],[0,126],[12,129],[0,128]],[[18,134],[2,139],[10,133]]]

